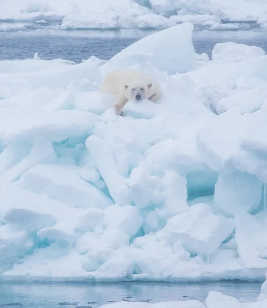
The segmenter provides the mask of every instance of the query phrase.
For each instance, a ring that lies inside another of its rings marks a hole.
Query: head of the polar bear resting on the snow
[[[124,85],[125,96],[128,100],[134,99],[140,102],[150,96],[151,83],[145,81],[134,81]]]

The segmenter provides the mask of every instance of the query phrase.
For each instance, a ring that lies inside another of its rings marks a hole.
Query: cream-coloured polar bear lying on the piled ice
[[[124,115],[122,109],[130,99],[136,102],[147,99],[156,103],[162,93],[156,80],[134,69],[109,72],[100,84],[99,92],[117,95],[118,99],[114,104],[117,115]]]

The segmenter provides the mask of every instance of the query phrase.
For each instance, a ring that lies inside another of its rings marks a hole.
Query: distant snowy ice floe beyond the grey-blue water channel
[[[265,0],[1,0],[0,31],[168,28],[266,28]]]

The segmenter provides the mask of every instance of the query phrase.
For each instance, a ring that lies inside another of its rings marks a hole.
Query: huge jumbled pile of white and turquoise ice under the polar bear
[[[0,279],[264,280],[267,55],[223,43],[209,60],[192,30],[107,62],[0,61]],[[114,67],[156,78],[159,104],[118,117],[97,91]],[[221,296],[206,307],[238,307]]]

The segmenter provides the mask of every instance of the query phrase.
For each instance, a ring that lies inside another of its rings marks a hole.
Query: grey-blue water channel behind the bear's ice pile
[[[66,59],[77,63],[91,55],[108,60],[141,37],[155,31],[17,31],[0,32],[0,60],[32,58]],[[197,53],[211,56],[214,45],[233,41],[256,45],[267,52],[267,32],[195,31],[193,43]]]

